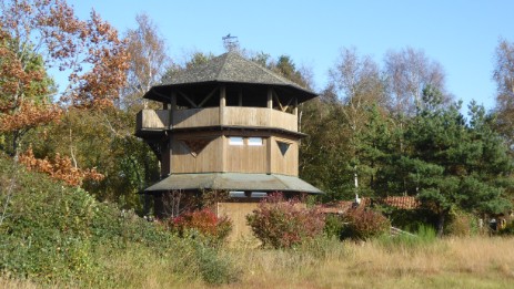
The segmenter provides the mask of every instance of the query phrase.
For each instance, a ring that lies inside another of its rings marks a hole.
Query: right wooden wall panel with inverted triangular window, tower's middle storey
[[[299,165],[298,142],[294,142],[288,138],[275,137],[275,136],[272,136],[270,141],[271,141],[271,162],[270,162],[271,173],[298,176],[298,165]],[[280,152],[280,147],[276,141],[291,144],[285,155],[282,155],[282,153]]]

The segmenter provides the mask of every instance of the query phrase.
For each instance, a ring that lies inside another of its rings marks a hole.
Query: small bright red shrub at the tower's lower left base
[[[223,241],[232,230],[232,221],[226,216],[219,218],[208,208],[188,211],[179,217],[170,218],[168,226],[181,236],[195,229],[214,241]]]

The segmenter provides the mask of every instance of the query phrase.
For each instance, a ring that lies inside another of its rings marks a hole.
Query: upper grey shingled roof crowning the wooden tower
[[[243,58],[238,52],[226,52],[213,58],[208,63],[184,70],[164,81],[163,84],[153,86],[145,99],[163,101],[159,94],[168,94],[174,87],[191,87],[193,84],[209,83],[238,83],[251,85],[272,85],[283,87],[296,95],[299,102],[304,102],[316,96],[305,87],[291,82],[281,75]]]

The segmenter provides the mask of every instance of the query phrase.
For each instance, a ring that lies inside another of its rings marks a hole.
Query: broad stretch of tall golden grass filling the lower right
[[[223,288],[512,288],[513,238],[325,240],[293,250],[234,250],[240,283]]]

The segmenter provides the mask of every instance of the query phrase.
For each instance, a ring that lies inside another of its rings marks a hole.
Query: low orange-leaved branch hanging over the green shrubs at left
[[[29,171],[44,173],[51,178],[63,180],[70,186],[80,186],[84,179],[98,182],[104,178],[104,175],[98,173],[95,168],[81,169],[74,167],[68,156],[56,154],[53,159],[48,159],[48,157],[43,159],[36,158],[32,148],[20,154],[19,162]]]

